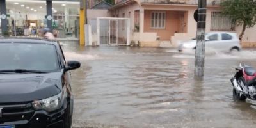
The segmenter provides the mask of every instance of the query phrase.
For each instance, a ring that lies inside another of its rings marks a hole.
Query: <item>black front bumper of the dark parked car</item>
[[[0,126],[14,125],[15,128],[63,128],[64,124],[68,122],[68,109],[60,109],[54,113],[47,113],[46,111],[35,111],[30,120],[19,120],[15,122],[0,123]],[[0,118],[1,120],[1,118]]]

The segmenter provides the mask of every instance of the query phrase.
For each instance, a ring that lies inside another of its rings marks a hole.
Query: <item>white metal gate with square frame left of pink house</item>
[[[130,19],[97,18],[97,42],[108,45],[130,45]]]

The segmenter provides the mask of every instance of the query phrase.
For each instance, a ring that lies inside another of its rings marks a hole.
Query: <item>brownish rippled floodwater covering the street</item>
[[[72,71],[74,127],[256,127],[256,102],[232,99],[230,78],[256,52],[205,56],[205,76],[193,76],[194,55],[176,49],[63,45]]]

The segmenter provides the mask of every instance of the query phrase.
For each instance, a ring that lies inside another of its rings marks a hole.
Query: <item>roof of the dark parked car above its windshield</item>
[[[0,43],[6,42],[20,42],[20,43],[39,43],[39,44],[53,44],[58,45],[56,40],[49,40],[45,38],[32,38],[32,37],[1,37]]]

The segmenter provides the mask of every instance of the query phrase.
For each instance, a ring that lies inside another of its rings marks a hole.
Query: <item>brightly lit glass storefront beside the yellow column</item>
[[[40,29],[52,20],[57,38],[79,38],[79,1],[52,1],[51,9],[49,17],[45,0],[6,0],[8,32],[2,34],[40,36]]]

